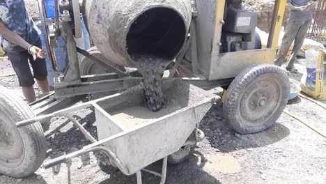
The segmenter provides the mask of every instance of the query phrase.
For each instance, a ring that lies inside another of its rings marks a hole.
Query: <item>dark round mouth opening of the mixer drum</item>
[[[127,53],[174,59],[182,49],[187,29],[172,8],[151,8],[139,15],[127,33]]]

